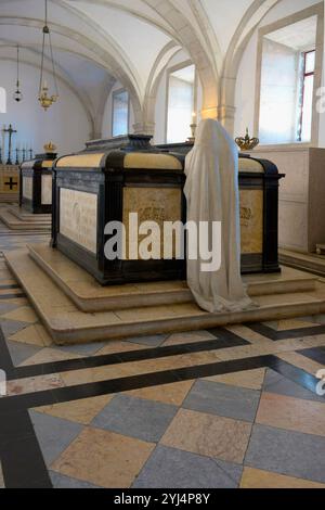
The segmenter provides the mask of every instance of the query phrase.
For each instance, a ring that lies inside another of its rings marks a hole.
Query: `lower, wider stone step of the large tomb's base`
[[[84,313],[29,256],[5,252],[5,260],[43,324],[60,345],[216,328],[325,313],[325,284],[315,290],[255,297],[258,307],[240,313],[207,314],[194,303]]]

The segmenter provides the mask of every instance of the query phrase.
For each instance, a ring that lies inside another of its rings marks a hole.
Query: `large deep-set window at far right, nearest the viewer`
[[[313,15],[262,36],[261,143],[312,140],[313,104],[318,79],[315,66],[317,27],[317,16]]]

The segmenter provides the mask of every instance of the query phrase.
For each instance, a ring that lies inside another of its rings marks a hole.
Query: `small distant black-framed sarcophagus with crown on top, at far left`
[[[52,165],[56,154],[38,154],[21,165],[20,206],[31,214],[52,213]]]

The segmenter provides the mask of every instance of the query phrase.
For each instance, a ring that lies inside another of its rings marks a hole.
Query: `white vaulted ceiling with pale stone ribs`
[[[49,0],[60,77],[93,113],[118,79],[136,111],[183,48],[198,68],[205,107],[212,107],[253,28],[281,1]],[[0,0],[0,60],[14,59],[20,42],[22,59],[39,65],[43,15],[42,0]]]

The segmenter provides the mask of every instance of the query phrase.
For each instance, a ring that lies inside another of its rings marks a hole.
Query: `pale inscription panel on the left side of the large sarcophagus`
[[[60,232],[80,246],[96,253],[98,195],[61,188]]]

